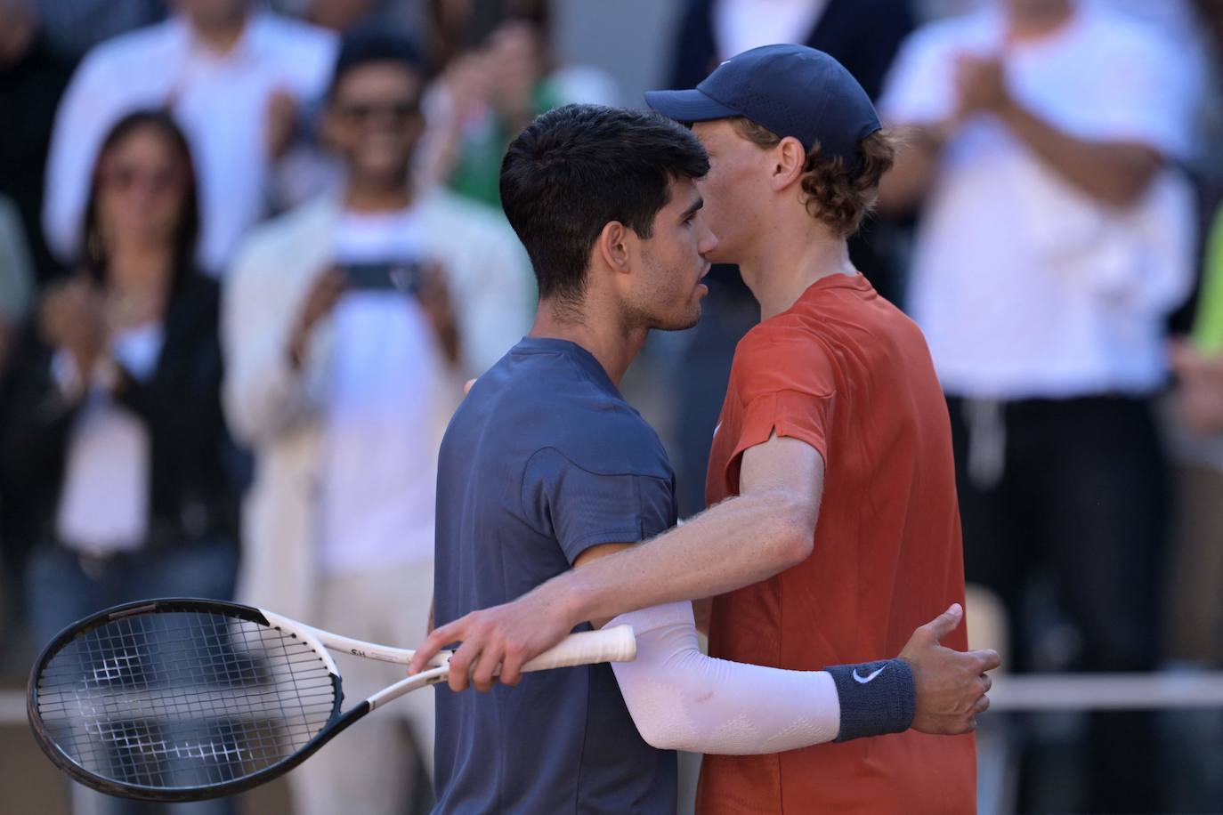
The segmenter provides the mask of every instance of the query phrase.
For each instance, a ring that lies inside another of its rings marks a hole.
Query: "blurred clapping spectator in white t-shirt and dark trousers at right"
[[[1080,645],[1060,667],[1157,657],[1164,459],[1150,400],[1195,264],[1201,84],[1099,4],[1005,0],[918,29],[881,100],[914,144],[881,203],[923,202],[910,312],[948,393],[966,577],[1021,613],[1052,574]],[[1157,811],[1148,717],[1093,723],[1087,811]]]

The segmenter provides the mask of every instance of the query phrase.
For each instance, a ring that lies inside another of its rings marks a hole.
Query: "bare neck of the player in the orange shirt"
[[[761,320],[785,312],[812,283],[832,275],[856,275],[845,238],[833,235],[808,216],[796,231],[799,239],[761,241],[740,260],[744,282],[761,304]]]

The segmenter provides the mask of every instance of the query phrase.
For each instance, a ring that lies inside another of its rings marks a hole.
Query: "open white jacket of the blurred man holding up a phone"
[[[435,444],[462,397],[465,378],[495,363],[530,327],[533,277],[522,244],[500,216],[437,189],[417,203],[424,252],[444,265],[462,360],[435,395]],[[306,204],[259,227],[225,282],[223,398],[235,436],[256,456],[243,507],[238,599],[308,621],[314,616],[316,492],[322,463],[323,387],[331,326],[316,326],[300,371],[287,343],[313,280],[331,263],[339,204]]]

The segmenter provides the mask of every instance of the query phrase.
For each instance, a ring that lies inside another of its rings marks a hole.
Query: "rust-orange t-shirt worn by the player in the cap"
[[[964,602],[951,430],[926,341],[861,275],[833,275],[739,343],[706,499],[739,492],[773,431],[824,459],[815,550],[713,602],[709,652],[818,671],[896,656]],[[750,543],[745,543],[750,545]],[[944,644],[964,650],[961,626]],[[704,758],[702,815],[972,813],[972,736],[909,731],[773,755]]]

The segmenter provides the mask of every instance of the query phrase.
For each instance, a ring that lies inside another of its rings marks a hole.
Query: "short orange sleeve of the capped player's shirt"
[[[826,346],[806,334],[758,326],[740,342],[730,380],[740,420],[728,470],[737,473],[744,451],[774,433],[810,445],[826,463],[835,455],[829,439],[837,365]]]

